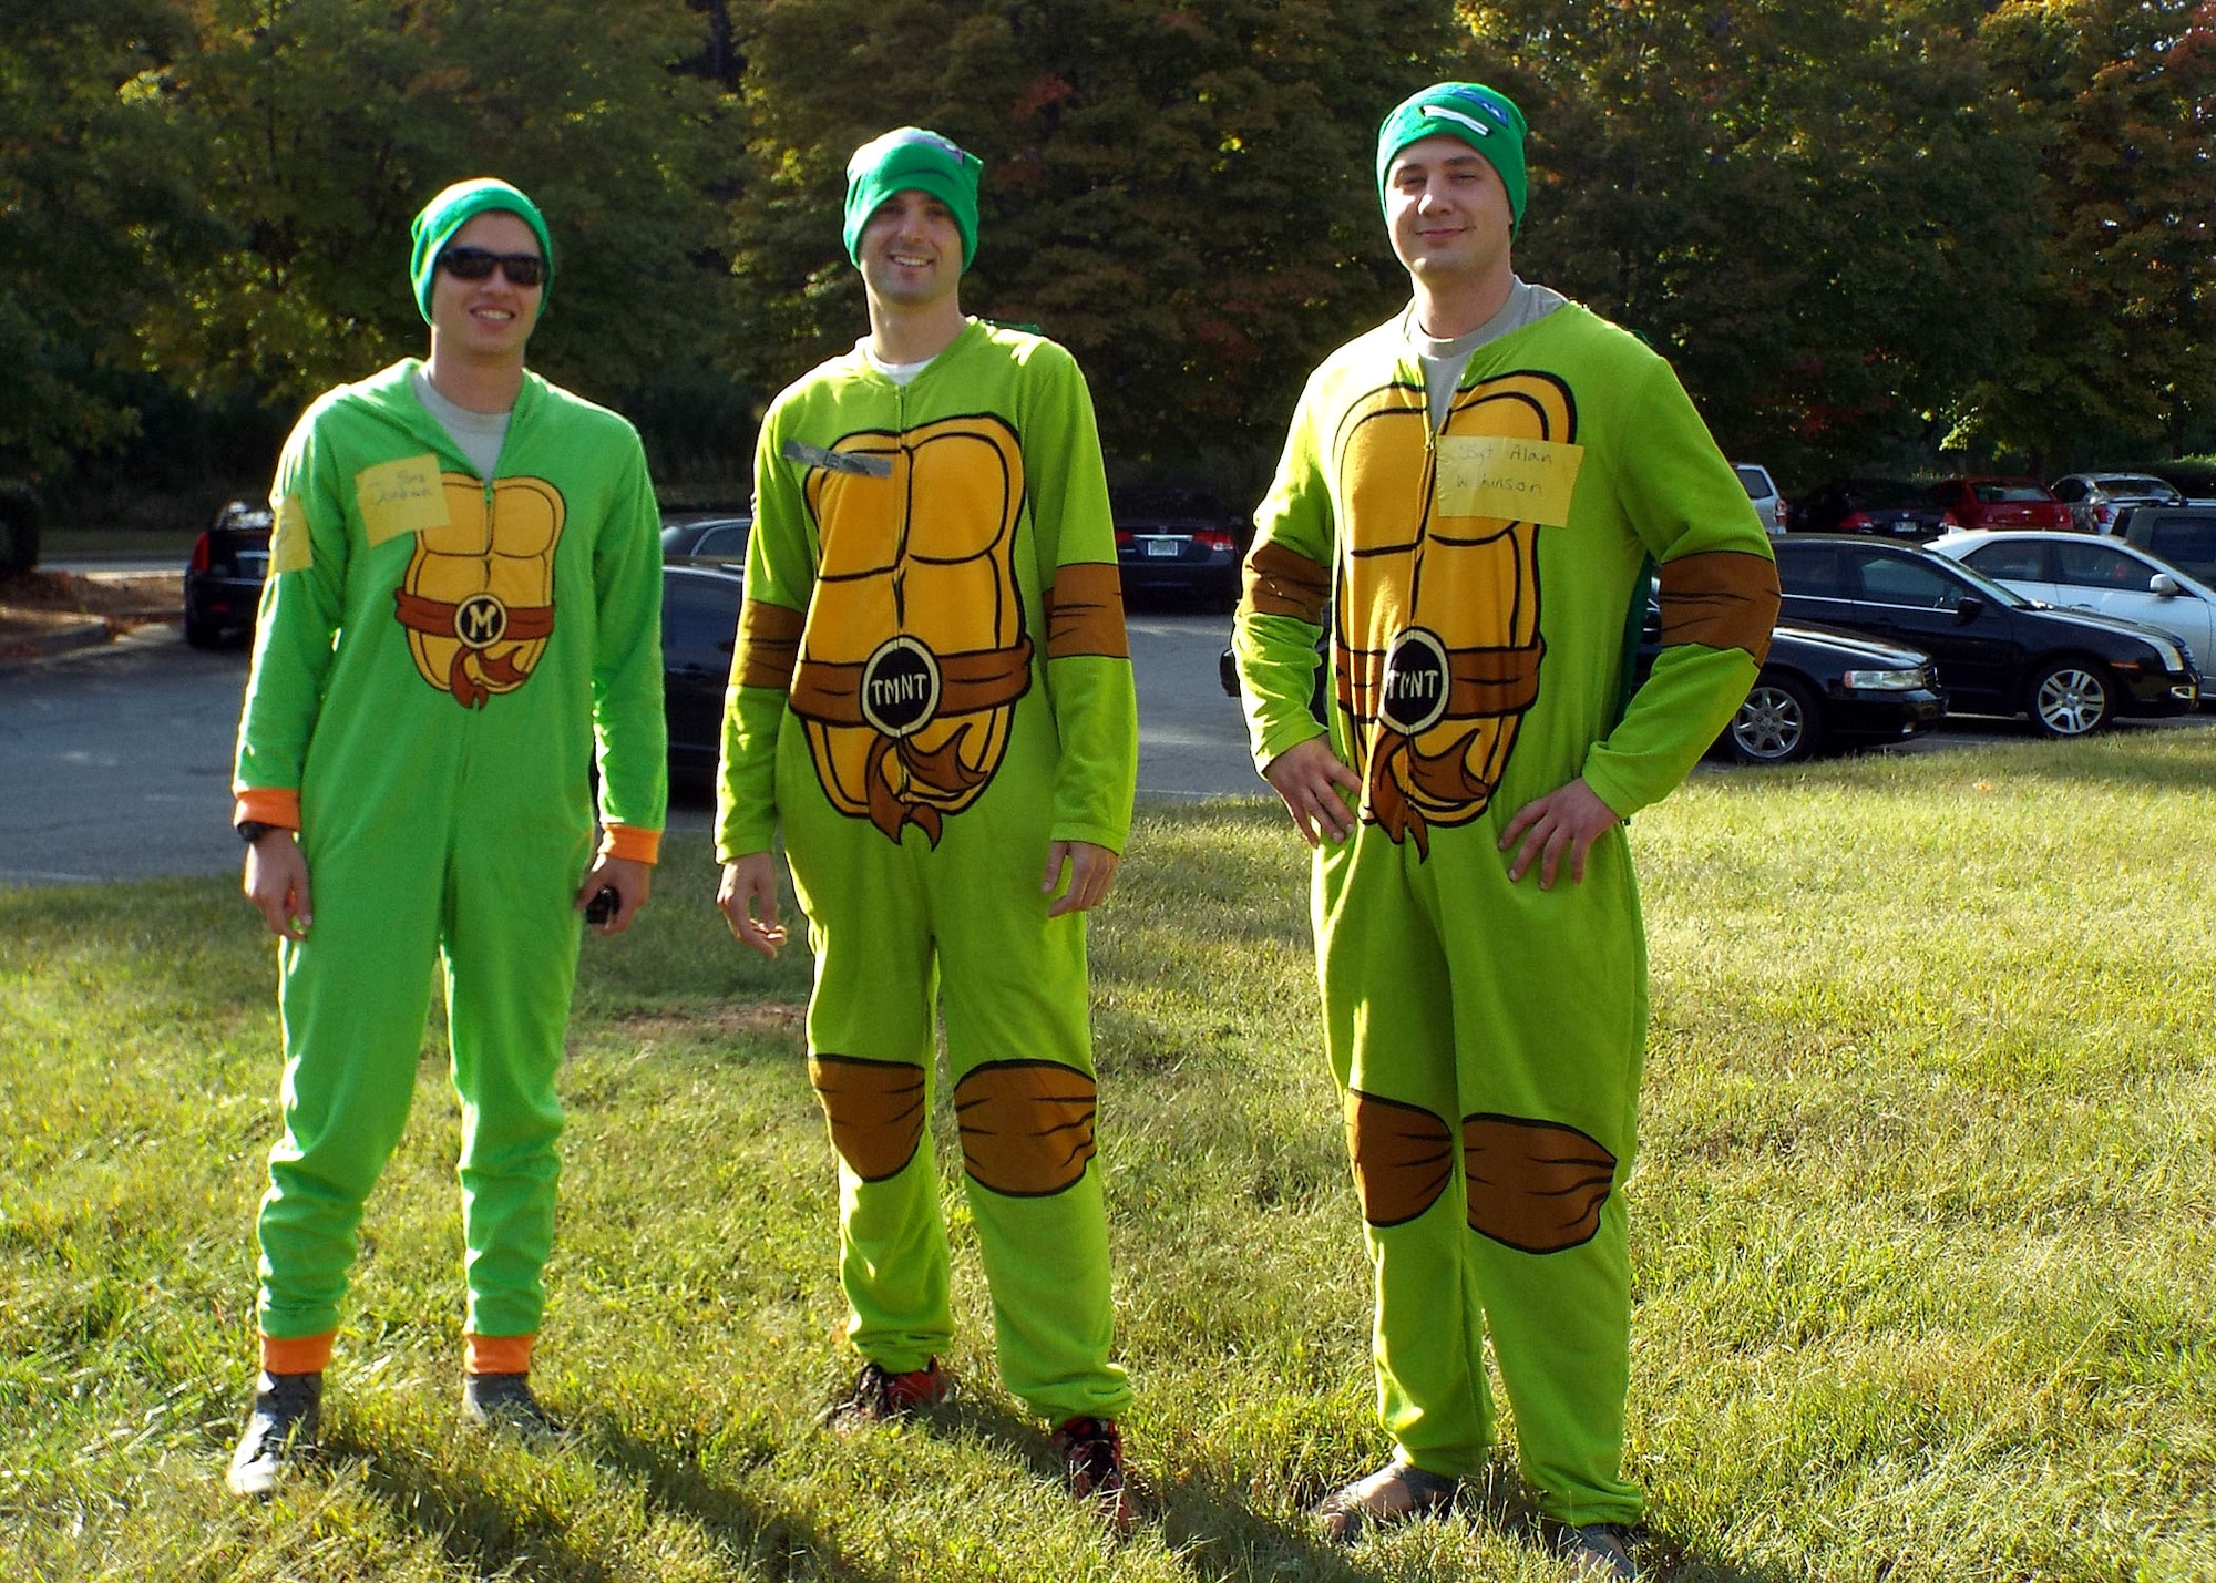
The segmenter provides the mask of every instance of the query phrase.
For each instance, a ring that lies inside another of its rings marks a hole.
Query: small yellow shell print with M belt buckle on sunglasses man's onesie
[[[567,508],[545,479],[499,479],[492,497],[443,472],[445,525],[417,534],[392,594],[417,674],[465,709],[530,681],[554,634],[554,545]]]

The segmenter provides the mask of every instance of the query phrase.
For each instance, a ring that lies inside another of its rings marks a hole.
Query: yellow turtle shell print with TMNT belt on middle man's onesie
[[[915,825],[937,845],[942,820],[991,785],[1030,690],[1015,583],[1024,452],[993,415],[831,450],[884,470],[811,466],[802,481],[820,559],[791,707],[831,807],[886,840]]]

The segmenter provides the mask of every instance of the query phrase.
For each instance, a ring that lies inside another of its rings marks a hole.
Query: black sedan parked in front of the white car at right
[[[2167,632],[2034,605],[1912,545],[1784,539],[1777,581],[1793,623],[1930,654],[1955,714],[2028,714],[2048,736],[2083,736],[2118,714],[2183,714],[2200,698],[2200,674]]]

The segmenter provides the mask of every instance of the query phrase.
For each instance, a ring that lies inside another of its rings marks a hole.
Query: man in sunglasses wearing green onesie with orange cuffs
[[[279,936],[286,1053],[261,1379],[230,1468],[248,1497],[317,1428],[434,962],[461,1097],[463,1412],[550,1430],[530,1357],[578,911],[629,927],[663,827],[660,523],[638,435],[523,368],[554,268],[523,193],[450,186],[412,242],[430,359],[330,390],[293,430],[239,721],[235,820]]]

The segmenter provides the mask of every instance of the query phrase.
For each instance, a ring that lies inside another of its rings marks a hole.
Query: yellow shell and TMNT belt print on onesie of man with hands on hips
[[[1341,419],[1338,707],[1365,823],[1429,856],[1432,827],[1485,811],[1538,701],[1536,521],[1438,512],[1438,452],[1420,384],[1372,390]],[[1553,375],[1485,379],[1454,397],[1445,437],[1573,443]],[[1250,594],[1252,599],[1254,594]]]

